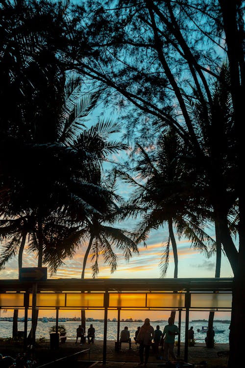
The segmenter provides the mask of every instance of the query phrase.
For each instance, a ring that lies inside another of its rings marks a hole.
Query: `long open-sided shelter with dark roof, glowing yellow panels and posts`
[[[103,310],[103,364],[106,363],[108,311],[176,311],[179,329],[185,312],[185,351],[188,362],[190,311],[231,311],[232,278],[182,279],[48,279],[41,282],[0,280],[0,308],[24,309],[24,346],[27,314],[36,309],[56,310],[56,332],[61,310]],[[178,355],[180,336],[178,337]]]

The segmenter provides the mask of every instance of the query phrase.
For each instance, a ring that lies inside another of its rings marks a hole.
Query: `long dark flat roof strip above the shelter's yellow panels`
[[[38,282],[38,291],[232,291],[233,278],[178,279],[48,279]],[[31,291],[33,283],[19,280],[0,280],[0,292]]]

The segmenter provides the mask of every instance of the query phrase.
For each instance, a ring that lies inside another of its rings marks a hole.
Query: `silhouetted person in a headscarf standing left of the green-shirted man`
[[[154,328],[150,325],[149,318],[145,319],[145,323],[141,326],[140,332],[137,335],[136,342],[140,344],[140,363],[139,366],[144,364],[144,350],[145,350],[145,367],[149,358],[149,350],[152,340],[154,339]]]

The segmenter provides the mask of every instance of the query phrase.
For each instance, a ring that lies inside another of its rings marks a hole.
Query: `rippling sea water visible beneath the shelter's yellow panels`
[[[66,327],[67,330],[67,338],[68,339],[74,339],[76,338],[76,329],[78,325],[81,322],[79,321],[66,321],[66,322],[59,322],[59,324],[62,324]],[[103,340],[103,334],[104,334],[104,323],[98,322],[98,321],[89,321],[86,322],[86,333],[90,326],[90,324],[93,323],[93,326],[95,327],[95,336],[98,340]],[[130,332],[130,337],[133,340],[133,337],[135,336],[135,331],[137,330],[138,326],[142,326],[143,322],[120,322],[120,331],[123,330],[124,326],[128,326],[128,330]],[[152,321],[151,325],[154,329],[156,329],[156,326],[160,326],[160,330],[163,331],[164,326],[167,325],[167,321]],[[175,321],[175,324],[178,324]],[[11,321],[0,321],[0,338],[8,338],[12,336],[12,325],[13,322]],[[49,340],[49,329],[50,327],[54,326],[55,322],[42,322],[38,321],[37,324],[37,330],[36,330],[36,339],[39,339],[41,337],[44,337],[45,339]],[[107,322],[107,340],[117,340],[117,322]],[[207,322],[192,322],[190,321],[189,328],[193,326],[194,329],[194,338],[195,339],[203,339],[205,338],[204,333],[198,333],[197,329],[202,328],[202,326],[207,326]],[[220,323],[214,321],[214,326],[216,326],[219,330],[225,330],[221,334],[215,335],[215,342],[217,343],[228,343],[229,342],[229,323]],[[27,324],[28,332],[30,331],[31,322],[28,321]],[[18,330],[24,331],[24,322],[18,322]],[[180,330],[180,340],[181,342],[184,342],[185,337],[185,322],[181,323],[181,330]],[[200,341],[202,342],[202,341]]]

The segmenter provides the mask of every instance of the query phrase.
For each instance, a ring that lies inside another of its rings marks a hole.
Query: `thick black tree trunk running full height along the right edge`
[[[225,42],[229,60],[231,96],[235,113],[235,132],[238,142],[238,198],[239,198],[239,254],[234,272],[232,312],[230,324],[230,352],[228,368],[243,367],[244,341],[240,338],[245,329],[245,192],[244,192],[244,133],[241,116],[245,100],[244,21],[242,1],[219,0],[223,18]],[[239,14],[240,12],[240,14]],[[240,26],[238,22],[240,21]],[[223,243],[223,242],[222,242]],[[224,246],[224,244],[223,244]],[[225,253],[226,249],[224,248]]]

